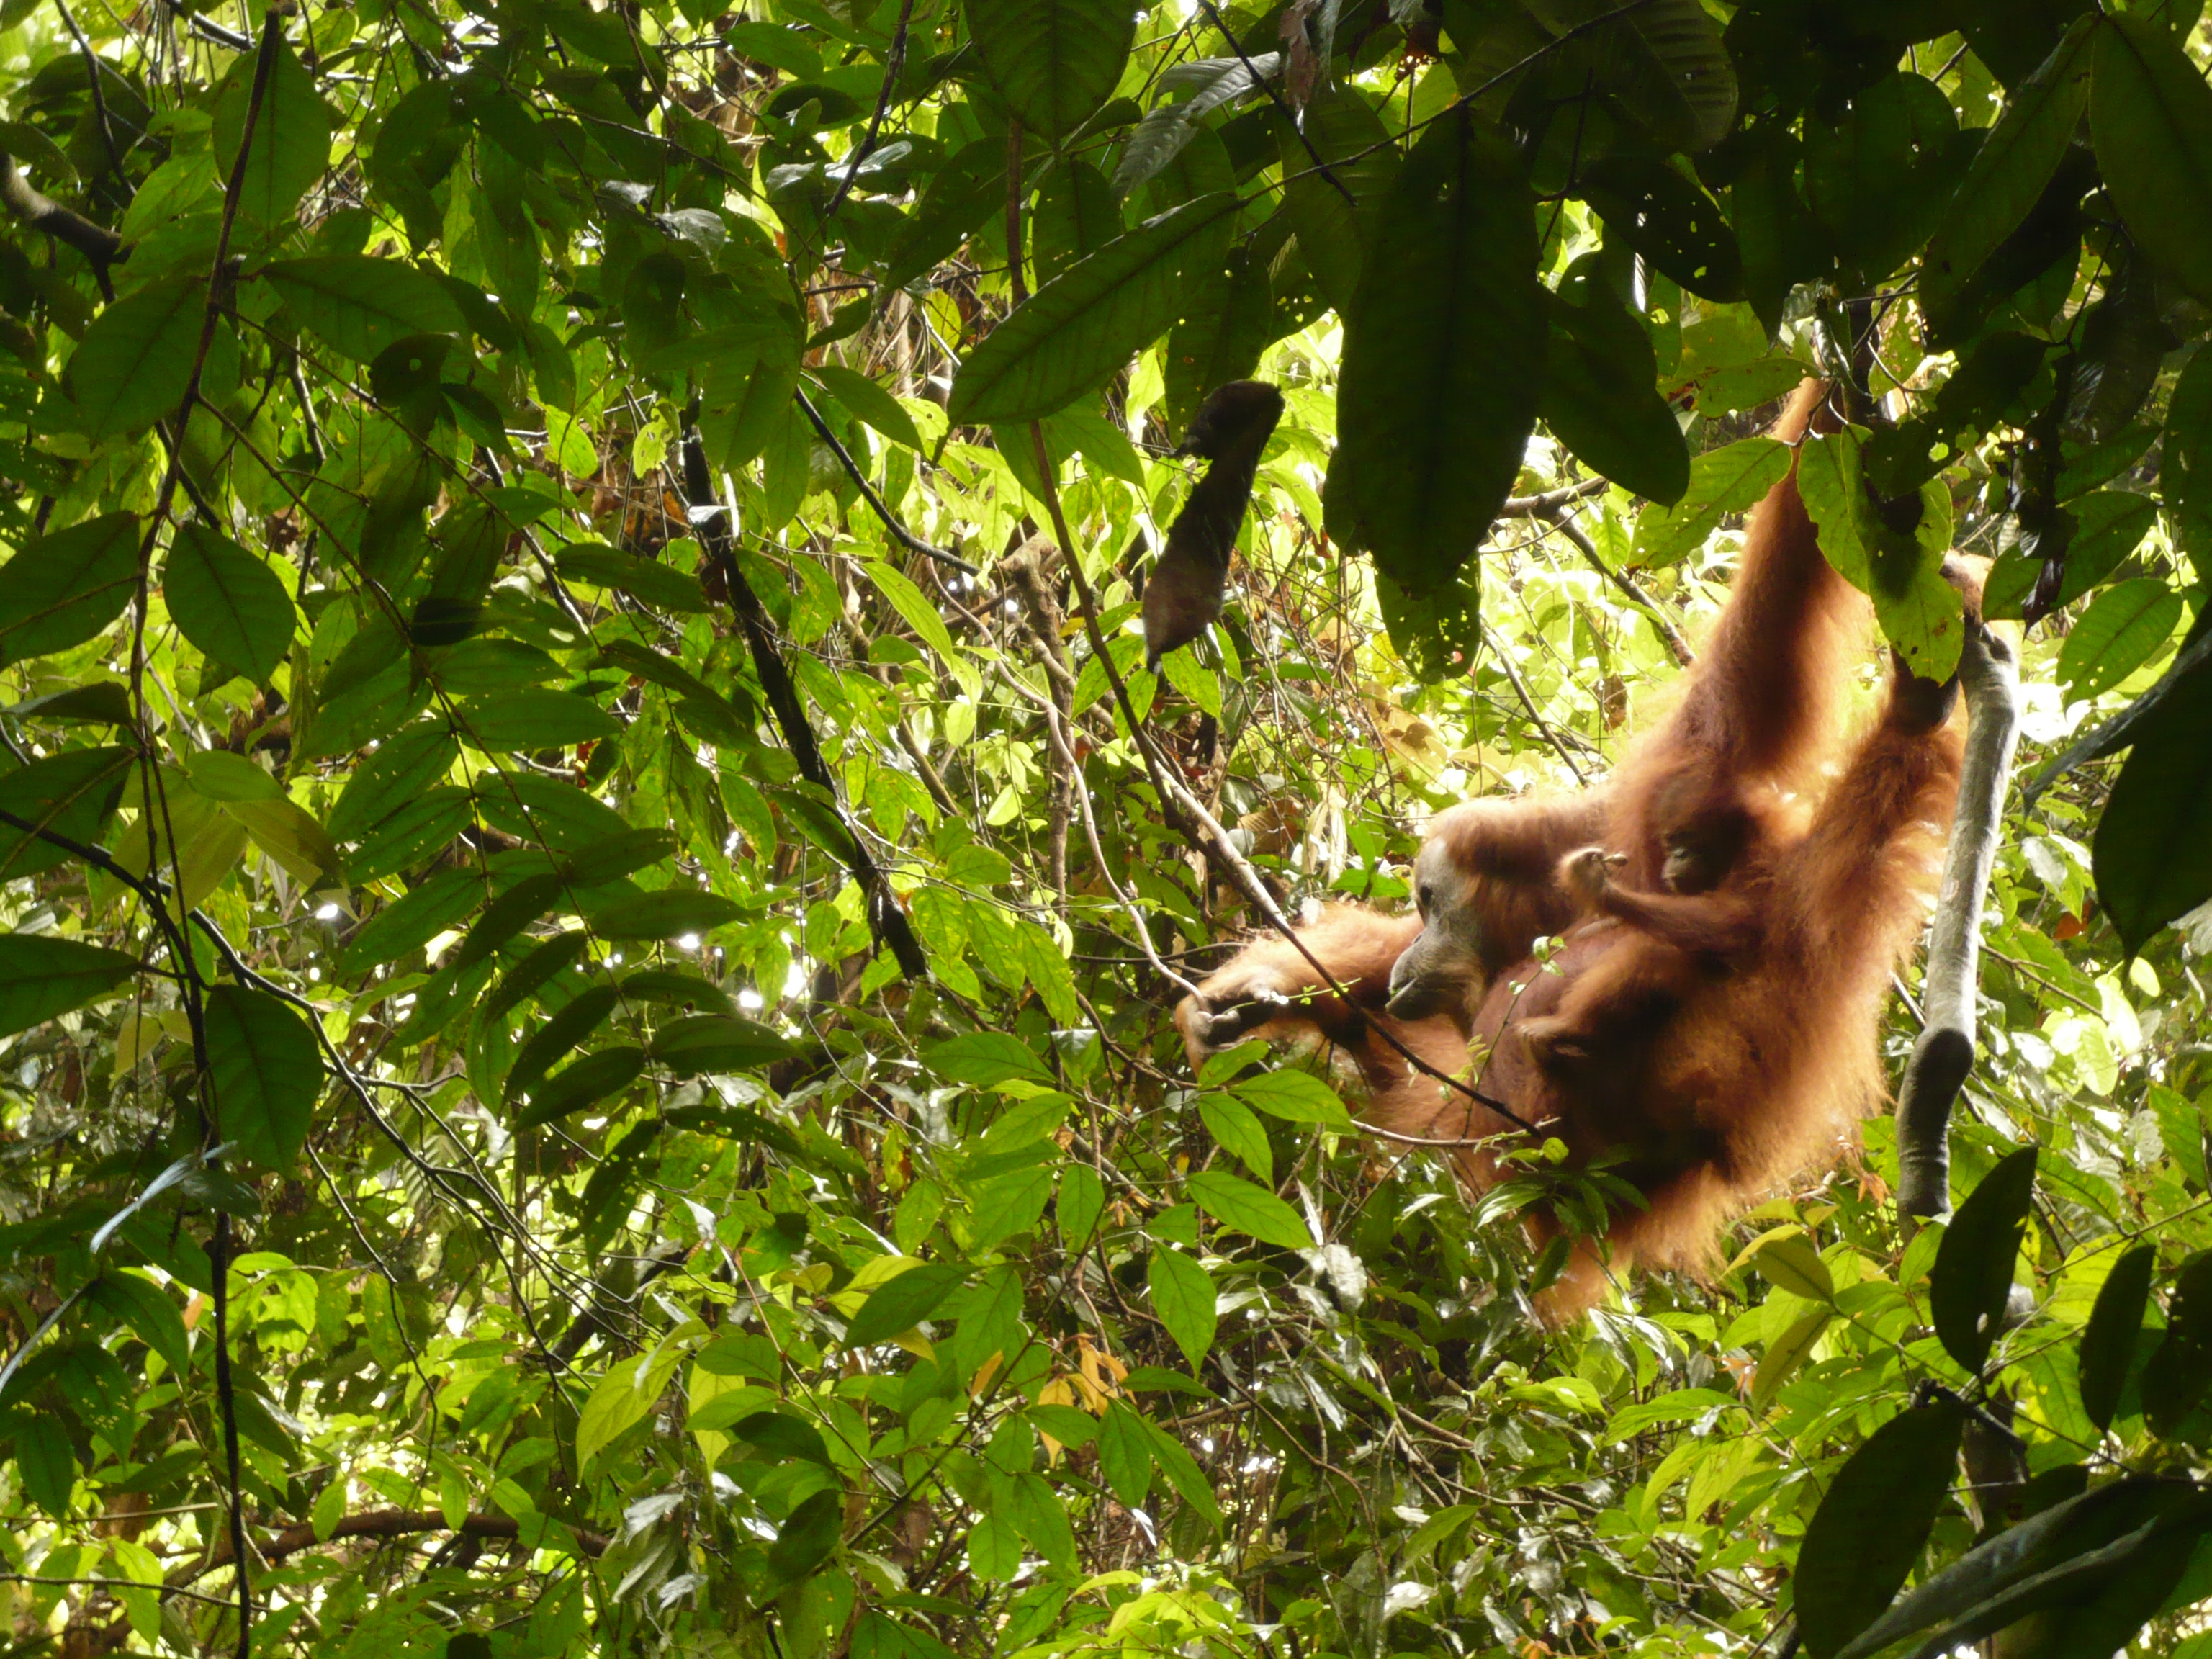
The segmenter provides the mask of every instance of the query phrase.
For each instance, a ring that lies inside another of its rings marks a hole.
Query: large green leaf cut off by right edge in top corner
[[[2212,86],[2163,20],[2097,29],[2088,131],[2135,246],[2212,303]]]

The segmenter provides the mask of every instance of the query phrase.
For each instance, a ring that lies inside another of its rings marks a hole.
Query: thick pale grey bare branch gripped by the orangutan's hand
[[[1951,1106],[1973,1066],[1982,900],[2020,737],[2020,661],[2011,644],[1969,626],[1958,672],[1966,692],[1966,763],[1922,980],[1927,1024],[1898,1091],[1898,1228],[1907,1237],[1951,1212]]]

